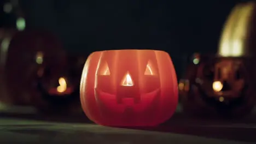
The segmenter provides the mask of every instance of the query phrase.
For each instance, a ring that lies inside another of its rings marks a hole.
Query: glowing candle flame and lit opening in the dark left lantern
[[[57,88],[51,88],[49,91],[49,94],[52,95],[64,95],[64,94],[71,94],[72,88],[67,87],[66,79],[63,77],[60,77],[59,79],[59,86]]]

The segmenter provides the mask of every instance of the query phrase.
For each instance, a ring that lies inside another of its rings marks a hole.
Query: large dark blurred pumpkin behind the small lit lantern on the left
[[[37,102],[42,101],[35,88],[38,69],[48,67],[52,73],[59,74],[65,61],[62,45],[53,34],[43,31],[16,33],[10,41],[3,67],[5,84],[9,90],[6,102],[37,105]]]

